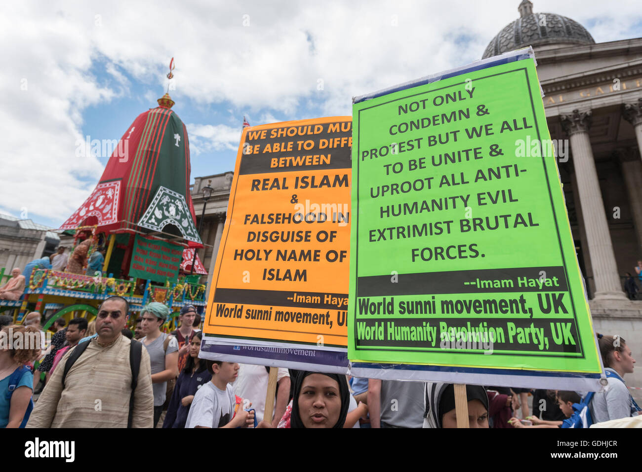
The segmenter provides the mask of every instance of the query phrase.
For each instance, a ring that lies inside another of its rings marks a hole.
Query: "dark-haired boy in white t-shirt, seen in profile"
[[[247,428],[254,425],[254,412],[239,407],[234,416],[236,395],[230,383],[236,380],[239,365],[220,360],[205,360],[205,365],[212,374],[212,380],[196,391],[185,427]]]

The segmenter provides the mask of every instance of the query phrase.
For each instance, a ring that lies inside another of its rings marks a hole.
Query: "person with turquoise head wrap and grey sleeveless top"
[[[169,307],[167,305],[153,301],[143,307],[141,316],[143,317],[141,327],[145,335],[141,342],[150,354],[152,362],[153,427],[155,428],[168,396],[168,388],[173,391],[175,380],[178,376],[178,342],[172,335],[160,332],[160,326],[165,323],[169,316]],[[168,382],[171,382],[169,387]],[[170,398],[171,393],[170,391]]]

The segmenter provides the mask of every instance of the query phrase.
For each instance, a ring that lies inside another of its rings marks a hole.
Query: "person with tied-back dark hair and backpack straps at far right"
[[[636,360],[621,337],[600,333],[597,336],[609,384],[602,391],[595,392],[591,401],[587,401],[593,423],[636,416],[640,408],[624,383],[624,375],[633,373]]]

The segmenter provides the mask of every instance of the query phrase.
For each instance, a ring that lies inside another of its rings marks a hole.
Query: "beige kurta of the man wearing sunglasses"
[[[132,392],[131,342],[120,335],[114,344],[103,347],[96,338],[92,339],[67,373],[63,390],[62,373],[73,349],[65,353],[35,403],[26,427],[126,428]],[[150,355],[143,349],[132,427],[151,428],[153,408]]]

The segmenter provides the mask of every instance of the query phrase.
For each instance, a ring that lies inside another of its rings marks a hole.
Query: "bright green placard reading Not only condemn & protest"
[[[353,106],[349,358],[598,373],[531,58]]]

